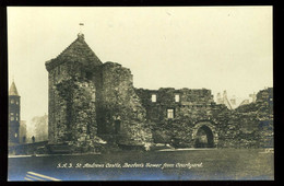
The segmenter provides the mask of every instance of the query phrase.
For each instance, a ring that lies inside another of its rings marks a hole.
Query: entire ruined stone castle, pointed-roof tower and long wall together
[[[272,89],[237,109],[206,89],[134,89],[130,69],[103,63],[82,34],[46,68],[51,144],[257,148],[273,139]]]

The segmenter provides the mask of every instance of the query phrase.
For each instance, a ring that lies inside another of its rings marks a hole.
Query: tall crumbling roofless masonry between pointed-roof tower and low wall
[[[145,108],[134,92],[132,74],[119,63],[105,62],[102,67],[100,94],[102,133],[116,135],[120,144],[144,144],[152,141]],[[120,124],[116,132],[116,123]]]

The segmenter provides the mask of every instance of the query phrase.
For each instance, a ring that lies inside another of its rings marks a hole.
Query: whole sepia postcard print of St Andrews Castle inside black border
[[[274,179],[271,7],[9,8],[8,23],[9,181]]]

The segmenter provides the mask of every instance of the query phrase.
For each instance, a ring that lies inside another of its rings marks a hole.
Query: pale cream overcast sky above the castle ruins
[[[103,61],[130,68],[135,88],[248,94],[273,85],[272,7],[8,8],[9,86],[22,120],[48,114],[45,61],[80,32]]]

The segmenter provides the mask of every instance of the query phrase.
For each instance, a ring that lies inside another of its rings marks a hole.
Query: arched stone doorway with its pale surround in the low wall
[[[193,127],[192,140],[194,148],[216,148],[218,136],[210,121],[200,121]]]

